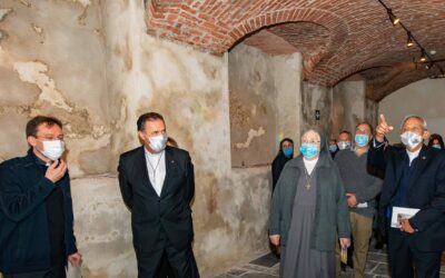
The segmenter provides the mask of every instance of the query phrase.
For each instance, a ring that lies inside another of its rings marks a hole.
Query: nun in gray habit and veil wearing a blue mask
[[[334,277],[335,244],[350,244],[346,196],[326,140],[309,130],[273,195],[269,238],[281,246],[280,277]]]

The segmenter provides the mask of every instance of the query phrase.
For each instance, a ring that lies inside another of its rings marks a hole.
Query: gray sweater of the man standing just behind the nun
[[[335,156],[345,191],[355,193],[357,203],[367,203],[366,208],[349,208],[349,211],[373,217],[376,211],[375,197],[380,192],[383,180],[373,176],[367,165],[367,153],[357,156],[354,150],[342,150]]]

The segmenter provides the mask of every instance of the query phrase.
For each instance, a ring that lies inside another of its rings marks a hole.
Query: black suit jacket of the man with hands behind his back
[[[195,193],[194,165],[187,151],[165,149],[166,178],[160,197],[150,183],[144,147],[120,156],[119,186],[131,211],[135,250],[151,251],[160,231],[178,250],[194,238],[190,201]]]

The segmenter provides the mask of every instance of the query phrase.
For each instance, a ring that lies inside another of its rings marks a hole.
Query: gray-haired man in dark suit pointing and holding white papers
[[[409,278],[416,272],[416,277],[438,278],[445,249],[445,153],[423,143],[428,131],[418,116],[403,122],[400,139],[406,148],[385,146],[390,130],[380,115],[368,162],[385,171],[379,208],[388,236],[392,277]],[[396,207],[418,211],[390,225]]]

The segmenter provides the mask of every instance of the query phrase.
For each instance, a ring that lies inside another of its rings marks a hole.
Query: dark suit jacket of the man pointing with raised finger
[[[385,171],[379,209],[386,227],[389,220],[386,209],[400,189],[406,159],[406,149],[369,148],[368,163]],[[423,146],[416,160],[413,160],[413,172],[404,196],[408,207],[421,209],[409,219],[417,229],[412,237],[422,251],[442,251],[445,249],[445,152]]]

